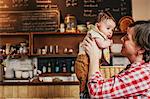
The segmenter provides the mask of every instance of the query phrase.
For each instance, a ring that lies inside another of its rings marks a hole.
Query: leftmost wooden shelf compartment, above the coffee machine
[[[0,55],[7,56],[11,53],[11,47],[13,47],[16,51],[19,51],[19,47],[21,43],[27,43],[27,55],[30,55],[30,46],[31,39],[30,33],[0,33]],[[9,45],[9,49],[6,51],[6,46]],[[15,55],[20,55],[19,52],[15,52]]]

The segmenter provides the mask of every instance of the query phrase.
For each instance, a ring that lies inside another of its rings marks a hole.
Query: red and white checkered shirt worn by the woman
[[[100,99],[150,99],[150,62],[131,64],[121,74],[104,80],[96,72],[88,82],[91,98]]]

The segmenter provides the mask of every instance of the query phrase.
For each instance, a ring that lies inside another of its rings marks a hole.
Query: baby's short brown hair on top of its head
[[[108,11],[101,11],[101,12],[98,14],[97,22],[104,21],[104,20],[108,20],[108,19],[112,19],[112,20],[116,23],[114,17],[111,15],[110,12],[108,12]]]

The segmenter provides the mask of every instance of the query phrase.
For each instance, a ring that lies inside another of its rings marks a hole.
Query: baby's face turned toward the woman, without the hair
[[[108,38],[111,38],[113,35],[114,28],[116,27],[115,22],[112,19],[107,19],[99,22],[98,29]]]

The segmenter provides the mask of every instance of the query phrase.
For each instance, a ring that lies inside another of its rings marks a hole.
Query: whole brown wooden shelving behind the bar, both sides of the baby
[[[121,43],[121,37],[124,33],[115,32],[113,35],[114,43]],[[86,33],[59,33],[59,32],[31,32],[31,33],[0,33],[0,46],[18,45],[21,42],[28,42],[29,57],[37,57],[38,69],[42,71],[46,66],[46,71],[41,76],[68,76],[71,75],[71,64],[75,61],[78,54],[79,43],[86,36]],[[50,51],[52,47],[52,52]],[[5,48],[4,48],[5,49]],[[46,52],[45,49],[47,49]],[[67,52],[66,52],[67,49]],[[69,50],[72,50],[69,52]],[[2,56],[7,56],[2,54]],[[16,56],[19,56],[17,54]],[[115,55],[114,55],[115,56]],[[57,72],[56,61],[59,61],[60,70]],[[48,71],[48,62],[53,62],[51,72]],[[65,63],[66,71],[63,71],[63,63]]]

